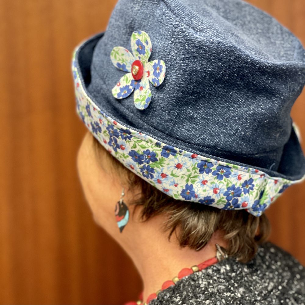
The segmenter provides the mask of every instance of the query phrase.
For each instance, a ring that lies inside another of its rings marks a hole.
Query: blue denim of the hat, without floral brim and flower
[[[143,30],[166,76],[144,110],[111,89],[110,52]],[[105,33],[79,55],[88,95],[120,124],[201,156],[298,180],[305,158],[290,111],[305,50],[272,16],[241,0],[119,0]],[[90,69],[89,69],[90,66]]]

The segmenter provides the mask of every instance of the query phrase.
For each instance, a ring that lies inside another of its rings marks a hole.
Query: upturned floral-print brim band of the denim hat
[[[260,216],[289,185],[300,182],[199,156],[119,124],[86,94],[76,62],[80,46],[72,60],[77,113],[109,153],[161,192],[174,199],[224,210],[245,209]]]

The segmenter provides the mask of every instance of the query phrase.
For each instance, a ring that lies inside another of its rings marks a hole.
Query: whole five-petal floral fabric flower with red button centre
[[[152,99],[149,82],[158,87],[164,80],[165,63],[160,59],[148,61],[152,43],[144,31],[135,31],[131,34],[131,50],[132,53],[126,48],[114,47],[110,53],[113,65],[129,72],[113,87],[112,94],[117,99],[124,99],[135,91],[134,104],[142,110]]]

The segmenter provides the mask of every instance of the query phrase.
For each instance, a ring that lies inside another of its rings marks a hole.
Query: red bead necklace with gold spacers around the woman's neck
[[[223,247],[219,246],[218,244],[215,244],[215,246],[216,246],[216,256],[215,257],[205,260],[204,262],[202,262],[198,265],[194,265],[191,268],[183,268],[178,273],[178,276],[175,276],[172,280],[165,281],[160,290],[158,290],[155,293],[150,294],[144,304],[143,304],[143,292],[141,292],[141,294],[139,296],[140,300],[138,300],[136,302],[127,302],[124,305],[147,305],[151,300],[156,299],[156,297],[158,296],[160,291],[167,289],[170,286],[175,285],[179,280],[181,280],[181,278],[184,278],[185,276],[190,275],[192,273],[201,271],[201,270],[205,269],[206,267],[216,264],[217,262],[224,260],[225,258],[228,257],[228,254],[226,253],[226,251]]]

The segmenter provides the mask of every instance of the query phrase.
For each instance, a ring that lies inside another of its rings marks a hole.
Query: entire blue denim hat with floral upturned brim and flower
[[[72,70],[95,138],[174,199],[260,216],[304,178],[305,50],[249,3],[119,0]]]

